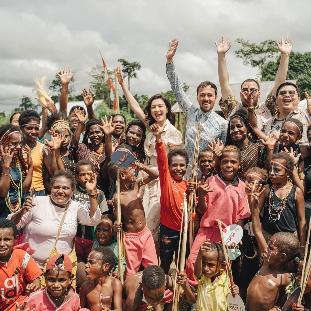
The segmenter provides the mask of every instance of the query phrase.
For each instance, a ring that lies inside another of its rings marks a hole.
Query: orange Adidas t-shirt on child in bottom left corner
[[[26,281],[31,283],[41,274],[28,253],[14,249],[7,267],[5,262],[0,262],[0,310],[15,310],[16,301],[21,305],[26,297]]]

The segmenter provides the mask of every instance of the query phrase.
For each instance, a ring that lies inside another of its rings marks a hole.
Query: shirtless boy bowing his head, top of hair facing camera
[[[194,289],[192,290],[187,282],[185,273],[178,274],[177,283],[184,291],[183,299],[194,304]],[[174,286],[174,279],[166,275],[161,267],[149,266],[143,272],[135,273],[124,281],[123,310],[145,311],[148,306],[152,306],[156,311],[160,311],[162,310],[161,304],[165,304],[163,311],[171,310]]]

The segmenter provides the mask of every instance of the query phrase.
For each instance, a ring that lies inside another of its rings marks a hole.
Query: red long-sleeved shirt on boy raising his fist
[[[165,227],[180,231],[183,215],[183,193],[187,193],[188,183],[183,179],[176,180],[170,174],[163,142],[156,142],[156,153],[161,187],[160,223]]]

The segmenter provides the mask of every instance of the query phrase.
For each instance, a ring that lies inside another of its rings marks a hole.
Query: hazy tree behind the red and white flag
[[[108,70],[108,75],[111,83],[114,83],[114,77],[112,71]],[[93,80],[90,82],[92,93],[96,94],[96,99],[102,99],[106,102],[109,108],[112,108],[113,101],[110,99],[110,89],[108,82],[104,82],[105,72],[104,68],[100,65],[92,67],[89,73]]]

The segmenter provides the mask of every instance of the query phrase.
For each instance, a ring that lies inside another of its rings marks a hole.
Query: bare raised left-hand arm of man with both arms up
[[[231,42],[229,42],[229,37],[225,40],[225,37],[219,38],[219,45],[215,41],[218,54],[218,78],[221,89],[221,96],[223,101],[228,98],[232,93],[231,87],[229,85],[229,73],[226,64],[225,54],[229,51],[231,47]],[[234,107],[232,107],[233,109]],[[232,111],[231,109],[231,111]]]

